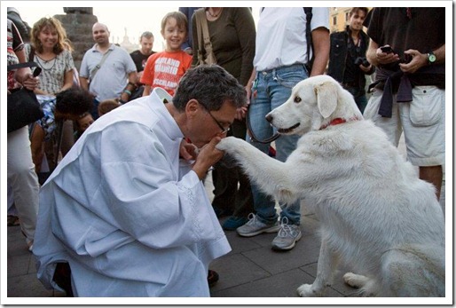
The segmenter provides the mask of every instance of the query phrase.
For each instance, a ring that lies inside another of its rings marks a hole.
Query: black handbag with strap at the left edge
[[[20,63],[8,66],[8,70],[17,69],[20,67],[36,67],[33,75],[37,76],[41,73],[41,68],[37,67],[35,62]],[[8,114],[7,114],[7,131],[12,132],[27,126],[28,124],[41,119],[43,108],[40,106],[38,99],[33,91],[22,87],[19,90],[12,90],[8,94]]]

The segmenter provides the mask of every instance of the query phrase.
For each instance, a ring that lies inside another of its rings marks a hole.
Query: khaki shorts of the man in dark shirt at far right
[[[444,165],[445,91],[435,86],[416,86],[409,103],[397,103],[394,95],[391,118],[378,114],[382,94],[383,91],[373,92],[364,117],[381,127],[395,146],[404,130],[407,160],[413,165]]]

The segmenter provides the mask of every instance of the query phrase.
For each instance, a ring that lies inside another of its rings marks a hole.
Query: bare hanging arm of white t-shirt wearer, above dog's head
[[[325,74],[327,61],[329,59],[329,30],[324,27],[319,27],[312,30],[311,36],[315,55],[311,76],[323,75]]]

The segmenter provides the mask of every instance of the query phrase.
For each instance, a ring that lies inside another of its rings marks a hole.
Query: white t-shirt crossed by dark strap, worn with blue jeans
[[[266,7],[256,31],[256,71],[307,63],[306,16],[302,7]],[[311,30],[329,29],[329,9],[312,8]]]

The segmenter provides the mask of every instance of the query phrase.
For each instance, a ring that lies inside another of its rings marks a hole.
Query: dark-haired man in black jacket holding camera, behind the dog
[[[369,37],[363,31],[366,7],[354,7],[349,14],[350,24],[344,31],[331,34],[331,50],[327,75],[332,76],[355,98],[361,113],[367,105],[366,76],[374,67],[366,59]],[[344,65],[341,65],[341,64]]]

